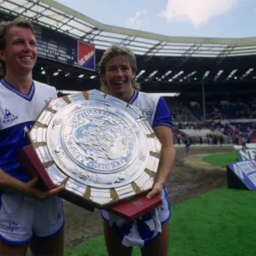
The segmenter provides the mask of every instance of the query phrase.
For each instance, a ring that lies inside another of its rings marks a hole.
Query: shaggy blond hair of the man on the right
[[[130,62],[131,70],[136,73],[137,72],[137,60],[133,51],[124,45],[112,44],[108,47],[108,49],[102,55],[101,61],[99,61],[98,69],[101,75],[101,90],[104,93],[109,93],[108,86],[104,83],[102,76],[106,73],[106,64],[109,60],[111,60],[115,56],[125,56],[127,60]],[[131,79],[132,87],[135,90],[140,90],[140,84],[137,84],[135,78]]]

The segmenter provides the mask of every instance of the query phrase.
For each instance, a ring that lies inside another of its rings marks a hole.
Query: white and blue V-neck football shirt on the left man
[[[57,97],[55,87],[32,82],[28,94],[16,90],[5,79],[0,81],[0,168],[23,182],[29,178],[15,159],[26,146],[26,132],[32,128],[45,105]]]

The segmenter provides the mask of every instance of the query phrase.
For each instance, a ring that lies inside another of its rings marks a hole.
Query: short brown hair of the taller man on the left
[[[6,38],[11,27],[20,26],[31,29],[33,35],[35,36],[35,31],[32,22],[22,18],[16,18],[15,20],[2,21],[0,22],[0,49],[5,49]],[[5,64],[0,60],[0,76],[5,74]]]

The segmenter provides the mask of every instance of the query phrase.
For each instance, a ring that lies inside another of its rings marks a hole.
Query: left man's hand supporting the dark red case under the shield
[[[37,199],[39,201],[44,201],[48,199],[49,197],[54,197],[58,195],[62,190],[65,189],[65,187],[60,186],[55,189],[51,189],[49,191],[41,191],[39,189],[36,189],[36,185],[38,183],[38,177],[33,178],[31,181],[26,183],[22,190],[20,191],[21,194],[26,195],[28,197],[32,197],[34,199]]]

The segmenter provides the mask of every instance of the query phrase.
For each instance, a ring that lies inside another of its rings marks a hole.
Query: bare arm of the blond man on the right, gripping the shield
[[[162,147],[154,187],[152,191],[148,193],[148,198],[161,195],[161,191],[166,183],[166,180],[172,172],[176,156],[176,150],[174,148],[172,139],[172,129],[165,125],[160,125],[154,127],[154,132],[160,140]]]

